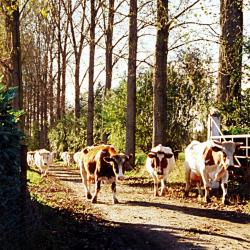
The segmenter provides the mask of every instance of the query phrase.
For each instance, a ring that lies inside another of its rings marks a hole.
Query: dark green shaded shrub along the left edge
[[[20,144],[22,132],[17,128],[20,112],[11,107],[16,89],[0,84],[0,235],[2,243],[18,248],[22,237],[20,206]],[[2,249],[7,249],[1,245]]]

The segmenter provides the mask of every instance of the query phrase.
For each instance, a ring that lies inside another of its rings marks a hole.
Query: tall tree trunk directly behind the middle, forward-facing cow
[[[168,0],[157,1],[157,37],[153,93],[153,146],[166,143],[166,84],[168,52]]]

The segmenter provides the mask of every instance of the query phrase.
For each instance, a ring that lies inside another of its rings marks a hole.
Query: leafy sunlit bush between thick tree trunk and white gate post
[[[174,149],[190,142],[196,120],[206,124],[213,98],[209,70],[210,60],[197,49],[183,51],[168,67],[167,144]]]

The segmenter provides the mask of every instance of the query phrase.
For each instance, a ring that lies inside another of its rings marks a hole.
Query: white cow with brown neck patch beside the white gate
[[[232,141],[192,141],[185,149],[185,196],[188,196],[192,181],[202,182],[205,189],[204,202],[209,202],[209,191],[221,183],[222,203],[227,201],[228,167],[234,166],[234,154],[240,143]],[[199,194],[201,190],[199,188]]]

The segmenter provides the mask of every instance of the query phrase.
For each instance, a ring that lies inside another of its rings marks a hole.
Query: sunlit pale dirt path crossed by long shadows
[[[84,197],[78,171],[55,166],[50,174],[74,190],[79,202],[91,204]],[[238,207],[204,207],[196,199],[184,200],[178,195],[153,197],[148,180],[138,179],[119,183],[117,198],[120,203],[113,205],[109,185],[102,185],[98,204],[91,204],[90,212],[126,228],[134,238],[138,233],[145,245],[153,242],[157,249],[250,249],[250,215],[239,212]],[[133,242],[128,246],[133,247]]]

